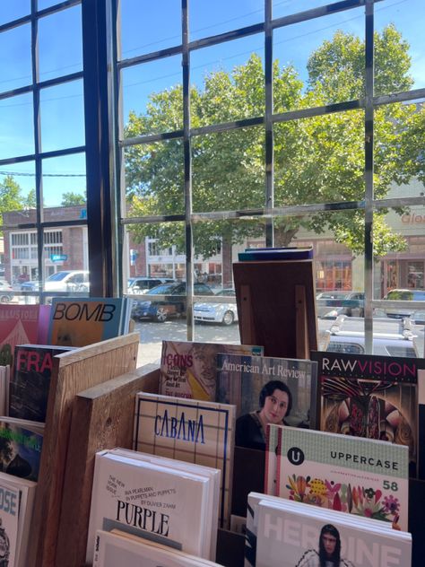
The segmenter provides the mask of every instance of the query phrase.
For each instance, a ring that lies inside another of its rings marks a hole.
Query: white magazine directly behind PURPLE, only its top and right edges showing
[[[206,508],[210,510],[206,518],[207,524],[205,526],[206,539],[211,539],[210,545],[210,559],[215,558],[217,548],[217,528],[219,521],[219,505],[220,505],[220,486],[221,486],[221,470],[219,468],[204,467],[202,465],[194,465],[193,463],[186,463],[174,458],[158,457],[148,453],[141,453],[131,449],[111,449],[110,453],[113,455],[122,455],[123,457],[139,458],[140,460],[149,461],[163,467],[174,467],[177,470],[182,470],[187,473],[195,473],[196,475],[204,475],[211,480],[209,483],[210,489],[208,491],[208,500]]]

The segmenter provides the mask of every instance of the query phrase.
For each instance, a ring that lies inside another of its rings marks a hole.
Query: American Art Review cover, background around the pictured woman
[[[285,414],[285,422],[294,427],[314,424],[317,362],[232,353],[217,355],[216,399],[234,404],[238,417],[259,409],[261,391],[272,381],[283,382],[291,390],[291,412]]]

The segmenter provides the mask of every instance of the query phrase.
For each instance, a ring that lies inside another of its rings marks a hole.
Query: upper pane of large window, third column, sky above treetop
[[[359,99],[364,94],[364,8],[273,33],[274,112]]]

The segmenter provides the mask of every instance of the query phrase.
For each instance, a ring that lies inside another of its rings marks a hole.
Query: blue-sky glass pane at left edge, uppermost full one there
[[[30,47],[30,24],[0,33],[1,92],[13,91],[32,83]]]

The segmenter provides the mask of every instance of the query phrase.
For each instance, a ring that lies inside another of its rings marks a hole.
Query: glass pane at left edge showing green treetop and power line
[[[35,165],[33,161],[0,166],[3,224],[35,222]]]

